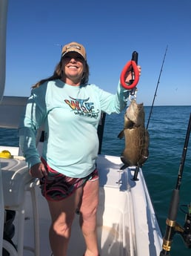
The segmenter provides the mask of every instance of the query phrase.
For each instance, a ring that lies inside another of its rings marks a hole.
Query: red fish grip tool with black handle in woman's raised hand
[[[139,80],[139,72],[138,72],[137,64],[138,64],[138,53],[136,51],[133,51],[132,59],[129,62],[127,62],[127,64],[124,66],[120,76],[120,82],[123,88],[127,90],[133,89],[132,92],[130,93],[131,95],[135,93],[135,90],[136,90],[135,87],[138,84],[138,80]],[[127,71],[132,72],[132,79],[128,84],[125,82]]]

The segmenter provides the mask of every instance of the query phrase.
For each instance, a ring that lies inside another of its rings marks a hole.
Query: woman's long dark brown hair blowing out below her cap
[[[55,79],[61,79],[61,77],[63,76],[63,73],[62,73],[62,70],[61,70],[61,62],[62,62],[62,59],[56,65],[53,76],[47,77],[45,79],[41,79],[40,81],[36,82],[36,84],[33,85],[32,88],[37,88],[40,85],[44,84],[44,82],[52,81],[52,80],[55,80]],[[90,74],[89,73],[89,65],[87,64],[87,61],[85,61],[85,69],[84,69],[84,74],[81,78],[81,85],[87,85],[88,80],[89,80],[89,74]]]

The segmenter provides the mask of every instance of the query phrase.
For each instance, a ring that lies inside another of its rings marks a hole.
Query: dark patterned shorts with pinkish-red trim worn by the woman
[[[98,170],[95,169],[87,177],[72,178],[67,177],[64,174],[50,168],[44,159],[41,159],[42,163],[47,170],[47,176],[40,179],[41,194],[50,201],[59,201],[69,197],[77,188],[81,187],[88,180],[98,180]]]

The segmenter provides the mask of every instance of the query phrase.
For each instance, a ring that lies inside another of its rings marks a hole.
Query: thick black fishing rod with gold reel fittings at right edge
[[[166,220],[166,232],[164,234],[162,250],[160,252],[160,256],[170,255],[170,249],[172,245],[172,238],[175,233],[181,234],[181,237],[184,240],[187,248],[191,249],[191,204],[188,206],[188,212],[186,214],[186,220],[184,223],[184,227],[181,227],[178,223],[176,223],[176,217],[178,213],[178,203],[179,203],[179,191],[181,187],[181,179],[183,175],[184,162],[187,155],[187,146],[190,138],[190,130],[191,130],[191,113],[190,120],[187,127],[187,134],[184,142],[184,148],[181,157],[181,163],[178,169],[178,179],[175,186],[175,189],[172,191],[172,198],[170,202],[170,209],[168,213],[168,217]]]

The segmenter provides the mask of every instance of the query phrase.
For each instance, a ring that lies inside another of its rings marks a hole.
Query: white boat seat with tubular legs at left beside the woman
[[[38,205],[35,190],[36,186],[38,186],[38,179],[33,179],[30,176],[24,157],[14,157],[13,159],[0,158],[0,164],[4,193],[4,209],[13,210],[18,213],[18,229],[16,230],[17,255],[24,255],[24,219],[26,213],[24,202],[28,191],[30,192],[33,207],[34,248],[27,249],[32,251],[35,256],[39,256]],[[10,252],[12,247],[13,246],[10,244]]]

